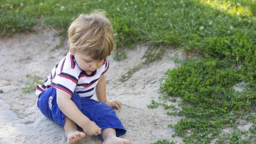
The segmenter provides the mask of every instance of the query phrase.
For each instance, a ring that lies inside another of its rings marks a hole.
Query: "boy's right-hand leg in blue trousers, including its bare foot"
[[[127,139],[119,138],[126,130],[116,117],[113,108],[103,102],[93,99],[81,98],[82,113],[102,128],[103,144],[131,144]]]

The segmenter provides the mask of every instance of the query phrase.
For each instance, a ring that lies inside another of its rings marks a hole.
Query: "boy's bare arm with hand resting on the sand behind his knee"
[[[96,85],[96,95],[99,100],[99,102],[104,102],[105,104],[108,104],[110,107],[116,107],[117,109],[121,108],[121,102],[115,100],[113,102],[108,102],[106,98],[106,79],[105,75],[102,74],[99,78],[99,82]]]

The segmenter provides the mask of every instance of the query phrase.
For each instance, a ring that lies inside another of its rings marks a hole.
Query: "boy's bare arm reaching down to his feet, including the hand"
[[[60,110],[72,121],[79,125],[87,135],[101,134],[101,129],[78,109],[67,93],[56,90],[57,104]]]

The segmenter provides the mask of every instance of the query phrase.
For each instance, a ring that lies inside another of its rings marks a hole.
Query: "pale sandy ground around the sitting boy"
[[[26,75],[32,74],[45,79],[59,59],[66,55],[68,46],[56,49],[60,38],[53,31],[41,30],[33,34],[16,34],[0,39],[0,144],[65,144],[64,129],[46,119],[38,110],[35,92],[21,93],[25,87]],[[67,43],[67,42],[65,42]],[[170,110],[163,107],[149,109],[151,99],[159,101],[160,83],[168,68],[175,68],[175,62],[168,56],[177,51],[168,50],[160,61],[144,65],[128,81],[120,78],[129,69],[139,65],[146,46],[127,50],[127,59],[120,62],[109,57],[111,67],[106,73],[108,100],[120,100],[121,110],[116,114],[121,119],[132,144],[151,144],[167,139],[182,143],[181,138],[172,138],[174,131],[167,127],[181,117],[168,116]],[[96,99],[96,96],[93,96]],[[102,139],[87,136],[79,144],[101,144]]]

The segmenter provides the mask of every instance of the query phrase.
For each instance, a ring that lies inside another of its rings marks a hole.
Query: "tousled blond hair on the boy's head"
[[[80,14],[68,28],[70,51],[86,52],[92,59],[102,60],[115,49],[113,28],[103,10]]]

